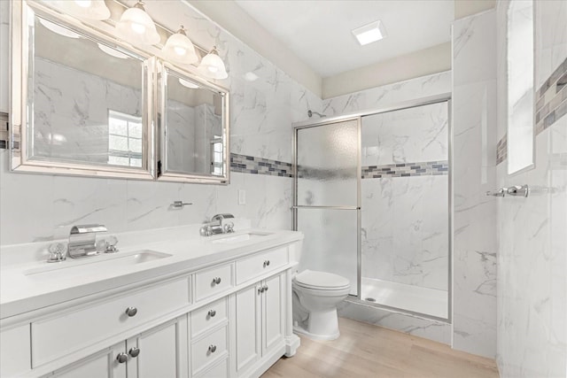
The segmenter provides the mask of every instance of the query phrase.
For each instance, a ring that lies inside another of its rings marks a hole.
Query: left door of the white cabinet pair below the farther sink
[[[242,289],[236,294],[236,339],[235,351],[237,374],[242,375],[261,355],[260,284]]]

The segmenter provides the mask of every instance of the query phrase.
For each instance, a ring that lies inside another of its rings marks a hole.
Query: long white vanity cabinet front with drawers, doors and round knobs
[[[291,332],[295,243],[3,320],[2,377],[257,377]],[[9,343],[8,343],[9,342]],[[18,344],[18,345],[17,345]],[[13,347],[12,347],[13,346]],[[5,362],[9,363],[5,363]]]

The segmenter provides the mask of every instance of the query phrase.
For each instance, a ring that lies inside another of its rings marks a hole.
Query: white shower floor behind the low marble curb
[[[362,277],[361,299],[447,319],[447,291]]]

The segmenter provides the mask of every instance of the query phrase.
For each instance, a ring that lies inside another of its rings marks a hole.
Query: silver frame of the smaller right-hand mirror
[[[197,182],[197,183],[217,183],[222,185],[228,185],[230,182],[230,103],[229,103],[229,91],[218,85],[212,84],[208,81],[204,81],[198,76],[188,73],[186,71],[180,70],[177,66],[174,66],[164,60],[159,59],[156,65],[157,77],[156,77],[156,87],[158,99],[158,110],[155,112],[157,125],[157,156],[158,161],[156,164],[161,162],[160,166],[157,166],[156,172],[158,172],[158,181],[178,181],[178,182]],[[167,125],[164,120],[163,114],[167,112],[167,71],[171,71],[176,75],[186,78],[189,81],[194,81],[202,89],[208,89],[211,92],[219,94],[221,99],[221,109],[222,109],[222,175],[215,174],[201,174],[201,173],[180,173],[175,171],[167,171],[167,138],[166,130]],[[161,116],[160,116],[161,115]]]

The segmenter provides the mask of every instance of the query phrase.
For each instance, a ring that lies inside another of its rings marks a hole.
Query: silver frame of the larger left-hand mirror
[[[49,19],[57,24],[65,25],[88,35],[94,40],[110,42],[132,51],[134,54],[144,58],[143,83],[142,83],[142,104],[143,128],[146,140],[144,141],[145,156],[142,157],[142,169],[120,167],[120,166],[97,166],[82,164],[81,162],[60,162],[50,161],[49,159],[34,160],[27,158],[27,77],[30,69],[28,50],[30,46],[27,31],[27,19],[34,14],[45,19]],[[38,174],[74,174],[85,176],[120,177],[127,179],[154,180],[155,157],[153,129],[153,91],[151,90],[151,76],[155,70],[155,60],[150,54],[144,51],[132,49],[132,47],[113,40],[108,36],[98,32],[93,28],[87,28],[76,19],[68,17],[58,12],[54,12],[41,4],[22,2],[12,2],[12,75],[11,75],[11,143],[10,143],[10,165],[12,171],[38,173]]]

